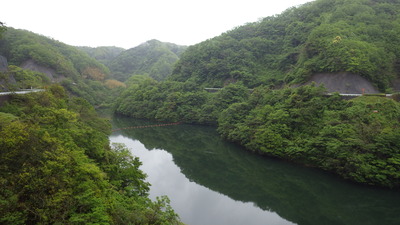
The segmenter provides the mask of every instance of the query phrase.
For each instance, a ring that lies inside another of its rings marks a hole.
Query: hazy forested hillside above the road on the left
[[[57,82],[71,94],[101,104],[112,89],[124,86],[109,79],[109,69],[83,51],[25,30],[8,27],[0,39],[0,55],[9,64],[3,79],[13,76],[20,81],[9,86],[11,89],[40,88]]]

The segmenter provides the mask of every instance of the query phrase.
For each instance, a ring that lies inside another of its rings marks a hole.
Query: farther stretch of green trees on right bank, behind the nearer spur
[[[135,77],[127,82],[130,86],[116,103],[117,113],[135,118],[215,124],[223,109],[244,101],[249,94],[241,83],[209,93],[191,82],[156,82],[148,77]]]

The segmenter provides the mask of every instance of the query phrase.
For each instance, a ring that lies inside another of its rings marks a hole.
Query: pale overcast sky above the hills
[[[76,46],[193,45],[312,0],[8,0],[0,21]]]

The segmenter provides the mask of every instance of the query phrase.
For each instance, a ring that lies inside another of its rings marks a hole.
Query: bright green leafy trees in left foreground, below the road
[[[179,223],[166,198],[147,197],[140,162],[109,146],[110,125],[86,100],[51,86],[0,111],[0,223]]]

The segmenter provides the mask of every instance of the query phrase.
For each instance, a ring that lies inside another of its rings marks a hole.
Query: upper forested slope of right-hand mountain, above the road
[[[316,0],[190,46],[172,80],[210,87],[359,74],[381,91],[399,76],[400,1]]]

